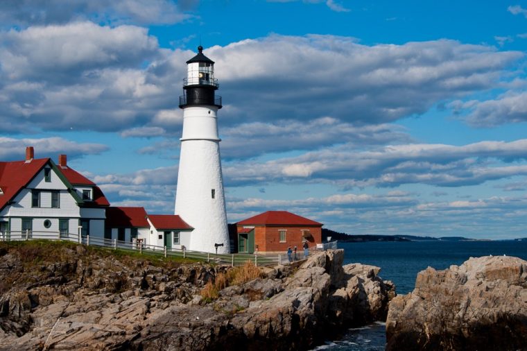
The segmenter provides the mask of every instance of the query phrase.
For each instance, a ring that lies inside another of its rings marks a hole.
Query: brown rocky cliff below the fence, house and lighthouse
[[[70,244],[0,245],[0,350],[302,350],[386,318],[379,268],[343,250],[200,291],[230,267],[158,264]]]

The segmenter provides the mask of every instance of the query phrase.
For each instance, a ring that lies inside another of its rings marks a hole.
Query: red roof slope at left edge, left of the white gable
[[[49,162],[49,158],[38,160],[0,162],[0,188],[3,195],[0,195],[0,209],[3,209],[7,203],[31,182],[33,177]]]

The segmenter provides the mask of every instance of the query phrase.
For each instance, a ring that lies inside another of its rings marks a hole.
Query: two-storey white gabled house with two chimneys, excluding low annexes
[[[20,232],[104,233],[110,203],[101,189],[67,165],[50,158],[35,159],[32,146],[26,160],[0,162],[0,236]]]

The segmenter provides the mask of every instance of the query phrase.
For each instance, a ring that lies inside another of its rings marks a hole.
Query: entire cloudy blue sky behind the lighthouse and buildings
[[[527,237],[527,1],[0,3],[0,159],[171,213],[185,61],[216,62],[235,222]]]

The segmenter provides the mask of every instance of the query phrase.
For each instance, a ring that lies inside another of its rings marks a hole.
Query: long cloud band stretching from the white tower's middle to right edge
[[[443,187],[482,184],[527,175],[527,139],[478,142],[465,146],[406,144],[357,151],[347,145],[266,162],[237,162],[224,168],[228,185],[272,182],[326,182],[340,187]]]

